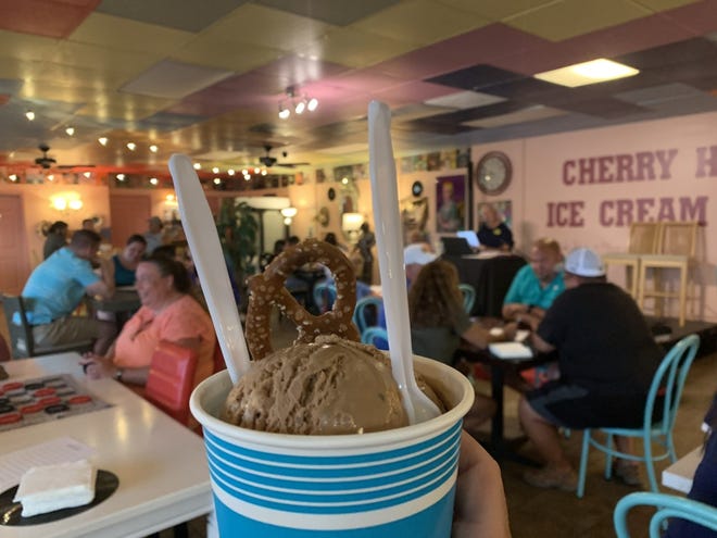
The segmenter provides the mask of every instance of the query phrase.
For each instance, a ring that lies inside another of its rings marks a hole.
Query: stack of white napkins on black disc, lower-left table
[[[23,517],[81,506],[95,499],[97,470],[87,460],[30,467],[20,479],[14,502]]]

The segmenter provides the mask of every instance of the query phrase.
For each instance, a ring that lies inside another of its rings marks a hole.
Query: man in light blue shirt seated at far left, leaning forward
[[[33,338],[38,346],[96,339],[95,351],[104,353],[116,334],[114,323],[73,316],[85,293],[111,297],[114,271],[111,260],[98,259],[101,238],[96,232],[80,229],[70,245],[39,264],[25,284],[23,298]],[[100,275],[91,261],[100,265]]]

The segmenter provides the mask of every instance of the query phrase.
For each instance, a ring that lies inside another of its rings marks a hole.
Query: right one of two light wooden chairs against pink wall
[[[655,298],[655,313],[663,314],[664,299],[678,299],[678,317],[680,327],[684,326],[687,317],[688,286],[690,270],[694,264],[697,242],[697,222],[665,222],[658,230],[657,250],[653,254],[640,258],[640,276],[638,278],[638,304],[644,308],[645,298]],[[653,271],[653,286],[646,289],[647,272]],[[677,270],[679,274],[676,290],[667,288],[662,278],[662,270]]]

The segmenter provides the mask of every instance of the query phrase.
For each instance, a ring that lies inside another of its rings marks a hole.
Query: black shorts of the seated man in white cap
[[[526,393],[526,399],[536,413],[565,428],[636,428],[644,421],[644,395],[596,393],[552,380]]]

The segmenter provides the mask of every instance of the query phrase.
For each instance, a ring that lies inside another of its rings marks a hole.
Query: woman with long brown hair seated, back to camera
[[[408,315],[413,352],[445,364],[453,364],[462,338],[479,348],[494,340],[488,329],[468,318],[463,309],[458,273],[455,265],[443,260],[420,268],[408,291]],[[471,433],[494,412],[493,400],[476,393],[463,426]]]

